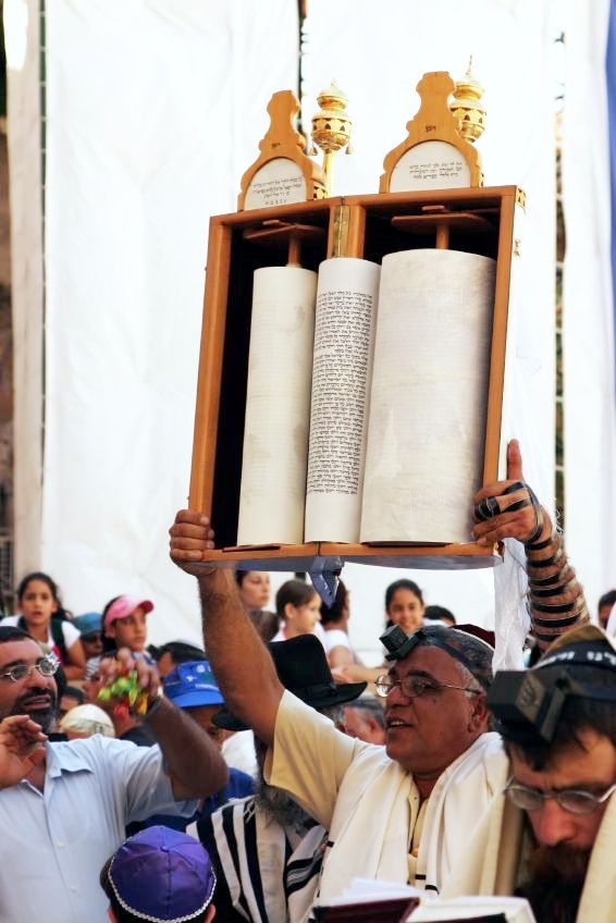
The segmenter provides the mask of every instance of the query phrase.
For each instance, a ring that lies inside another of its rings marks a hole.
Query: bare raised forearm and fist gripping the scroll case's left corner
[[[181,509],[169,530],[171,558],[197,577],[204,641],[226,706],[266,743],[274,737],[283,687],[273,661],[239,599],[231,571],[207,568],[201,553],[213,547],[207,517]]]

